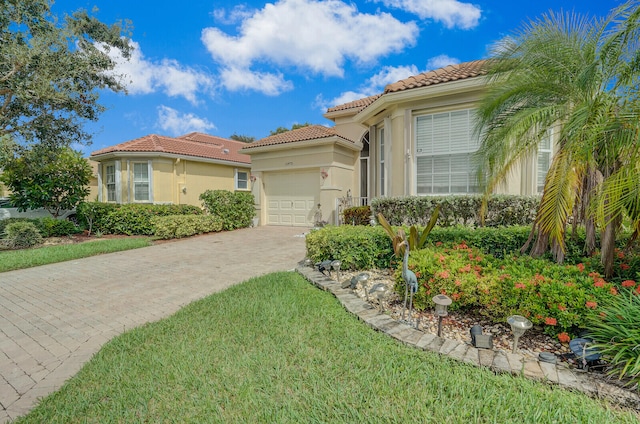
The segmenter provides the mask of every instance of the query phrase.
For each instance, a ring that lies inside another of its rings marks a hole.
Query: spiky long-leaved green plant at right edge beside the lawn
[[[633,287],[636,287],[635,285]],[[637,289],[637,287],[636,287]],[[640,296],[625,290],[590,315],[588,336],[611,365],[611,374],[640,382]]]

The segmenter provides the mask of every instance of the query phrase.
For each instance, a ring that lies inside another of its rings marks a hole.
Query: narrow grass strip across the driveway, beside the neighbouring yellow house
[[[86,243],[62,244],[37,249],[6,250],[0,252],[0,272],[70,261],[72,259],[86,258],[103,253],[137,249],[145,246],[151,246],[150,239],[132,237],[99,239]]]

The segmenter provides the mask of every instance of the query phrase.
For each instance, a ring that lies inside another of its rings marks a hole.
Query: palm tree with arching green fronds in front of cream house
[[[631,1],[606,19],[550,12],[502,40],[487,61],[476,156],[485,193],[554,134],[555,155],[523,247],[535,237],[532,256],[550,249],[562,262],[572,217],[585,225],[585,253],[596,249],[600,229],[611,275],[623,216],[640,228],[639,10]]]

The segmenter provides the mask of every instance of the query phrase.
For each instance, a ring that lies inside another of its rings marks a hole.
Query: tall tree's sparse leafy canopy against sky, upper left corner
[[[3,0],[0,6],[0,137],[69,146],[90,141],[85,121],[104,111],[99,90],[124,91],[110,49],[129,57],[120,24],[86,11],[58,19],[51,0]]]

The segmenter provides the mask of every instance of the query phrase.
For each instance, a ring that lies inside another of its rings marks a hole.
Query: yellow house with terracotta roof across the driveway
[[[206,190],[251,190],[244,143],[202,133],[147,135],[91,154],[101,202],[200,206]]]

